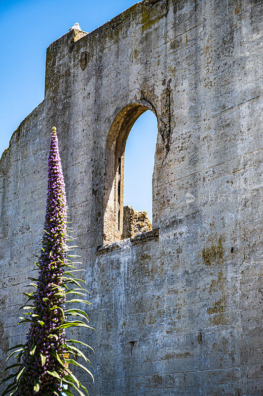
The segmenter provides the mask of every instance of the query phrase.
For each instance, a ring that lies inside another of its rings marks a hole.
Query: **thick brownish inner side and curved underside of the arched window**
[[[106,244],[127,238],[127,236],[125,237],[127,233],[123,230],[124,151],[131,128],[136,120],[147,110],[149,108],[141,104],[125,106],[115,117],[107,137],[105,148],[103,235],[104,243]],[[132,210],[130,207],[128,209]]]

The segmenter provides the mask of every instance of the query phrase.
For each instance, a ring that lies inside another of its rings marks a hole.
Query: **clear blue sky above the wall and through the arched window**
[[[68,32],[75,22],[90,32],[135,3],[134,0],[0,0],[0,156],[20,122],[44,99],[45,54],[49,44]],[[151,186],[156,144],[156,120],[150,111],[139,118],[132,134],[126,147],[125,204],[150,214],[151,191],[150,198],[146,196],[149,196],[149,180]],[[131,181],[128,156],[137,155],[137,163],[140,161],[139,151],[134,151],[136,136],[141,141],[137,148],[144,147],[149,153],[144,151],[144,171],[142,167],[138,169],[142,180],[135,183]]]

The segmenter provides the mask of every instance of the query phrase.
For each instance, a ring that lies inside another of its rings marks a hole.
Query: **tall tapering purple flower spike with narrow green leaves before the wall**
[[[32,293],[24,293],[28,297],[26,304],[21,307],[26,310],[21,323],[29,322],[30,329],[27,341],[20,344],[11,352],[7,360],[14,356],[17,363],[7,367],[16,369],[2,382],[12,379],[2,396],[74,396],[75,390],[84,396],[86,388],[77,380],[69,366],[76,365],[85,370],[92,378],[91,372],[75,359],[77,356],[89,362],[84,353],[74,346],[81,344],[92,349],[85,343],[77,340],[66,340],[66,329],[69,327],[91,328],[82,320],[69,320],[77,316],[88,322],[86,312],[79,308],[72,308],[72,303],[89,304],[83,299],[86,296],[81,287],[81,279],[74,275],[75,255],[68,254],[75,246],[68,247],[69,237],[67,230],[67,204],[65,184],[60,162],[56,128],[52,128],[50,151],[48,157],[48,192],[46,215],[42,247],[38,262],[38,279],[29,278],[35,287]],[[72,297],[73,296],[73,297]],[[77,296],[77,297],[76,297]],[[68,298],[69,297],[69,298]],[[79,298],[78,298],[79,297]],[[67,304],[69,308],[66,309]],[[69,319],[68,319],[69,318]],[[68,389],[65,389],[65,385]]]

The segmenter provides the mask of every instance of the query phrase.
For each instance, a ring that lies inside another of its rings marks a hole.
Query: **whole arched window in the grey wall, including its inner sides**
[[[106,244],[151,229],[146,211],[151,219],[157,119],[150,110],[140,117],[147,110],[147,107],[140,104],[124,107],[115,117],[108,134],[105,153],[103,236]],[[124,165],[124,151],[130,131],[127,163]],[[143,207],[144,204],[146,207]]]

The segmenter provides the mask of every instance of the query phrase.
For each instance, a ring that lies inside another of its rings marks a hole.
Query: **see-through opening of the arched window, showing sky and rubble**
[[[157,119],[150,111],[133,125],[125,146],[122,239],[152,229],[152,174]]]

